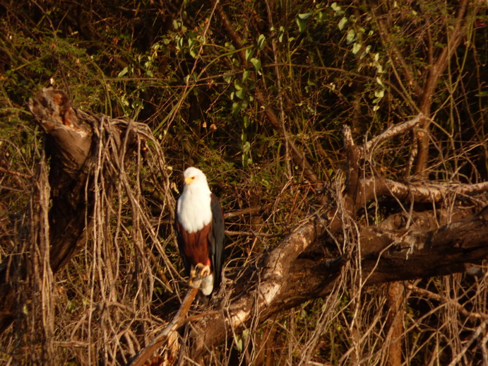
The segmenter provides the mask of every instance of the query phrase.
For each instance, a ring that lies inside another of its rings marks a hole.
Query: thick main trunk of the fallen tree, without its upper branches
[[[318,223],[308,224],[290,235],[284,246],[311,244],[320,233],[318,226]],[[359,242],[362,243],[362,285],[464,272],[470,264],[488,258],[488,206],[433,230],[393,231],[369,227],[361,232]],[[327,296],[347,261],[343,257],[326,259],[316,254],[311,254],[313,259],[286,259],[281,256],[283,252],[274,249],[261,273],[220,314],[194,322],[198,345],[195,358],[222,343],[231,329],[238,333],[251,319],[256,321],[256,316],[261,322],[285,309]],[[281,257],[276,261],[276,256]],[[230,290],[241,287],[242,283],[237,283]]]

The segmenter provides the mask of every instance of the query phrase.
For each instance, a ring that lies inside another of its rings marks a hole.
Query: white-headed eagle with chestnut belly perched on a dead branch
[[[220,202],[196,167],[184,173],[183,193],[177,201],[176,232],[179,253],[189,285],[203,295],[217,290],[222,280],[224,217]]]

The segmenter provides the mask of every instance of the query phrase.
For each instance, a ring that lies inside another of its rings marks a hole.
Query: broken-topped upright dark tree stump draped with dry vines
[[[107,117],[74,109],[60,90],[44,89],[30,100],[29,108],[35,122],[45,132],[48,159],[44,163],[49,160],[49,184],[44,185],[50,187],[46,199],[51,206],[47,223],[40,222],[37,213],[33,212],[36,205],[29,206],[20,220],[18,232],[25,233],[20,240],[32,243],[32,251],[36,250],[37,242],[28,233],[29,228],[37,226],[48,233],[44,240],[49,242],[49,258],[44,260],[49,263],[44,265],[56,273],[84,247],[92,225],[93,163],[98,156],[100,140],[104,135],[110,136],[114,145],[120,146],[126,130],[115,128],[115,124],[108,123]],[[110,182],[108,179],[105,185],[107,197],[110,197]],[[29,266],[25,254],[13,254],[0,264],[0,333],[12,324],[16,312],[22,307],[16,301],[16,283],[25,281],[31,269]]]

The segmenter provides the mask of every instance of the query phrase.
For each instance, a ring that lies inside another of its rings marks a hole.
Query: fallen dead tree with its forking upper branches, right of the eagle
[[[404,124],[412,128],[422,118]],[[383,136],[393,136],[386,131]],[[348,129],[344,130],[344,141],[349,159],[359,158]],[[359,177],[359,166],[350,163],[348,176],[354,182]],[[352,179],[351,179],[352,177]],[[367,201],[381,196],[394,196],[400,200],[439,202],[448,194],[474,194],[488,190],[488,183],[481,184],[402,184],[379,177],[358,179],[346,189],[343,207],[347,215],[356,211]],[[347,203],[349,202],[349,203]],[[429,216],[434,216],[432,213]],[[326,296],[340,277],[346,258],[299,259],[307,256],[312,244],[323,235],[335,235],[342,229],[337,209],[330,209],[325,216],[314,218],[295,231],[273,249],[261,261],[261,271],[255,273],[253,281],[246,278],[229,290],[239,294],[222,312],[212,314],[194,324],[194,356],[200,357],[208,348],[218,345],[228,332],[238,332],[258,314],[259,320],[282,312],[312,298]],[[434,216],[435,217],[435,216]],[[404,281],[425,276],[439,276],[465,271],[466,264],[481,261],[488,256],[488,207],[480,213],[472,211],[451,213],[457,217],[454,223],[427,222],[421,230],[385,230],[381,227],[365,228],[360,237],[362,278],[366,285]]]

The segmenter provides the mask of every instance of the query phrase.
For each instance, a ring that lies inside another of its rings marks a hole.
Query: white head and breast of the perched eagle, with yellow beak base
[[[211,192],[207,177],[196,167],[187,168],[183,177],[184,188],[178,199],[177,215],[186,231],[196,232],[212,220]]]

